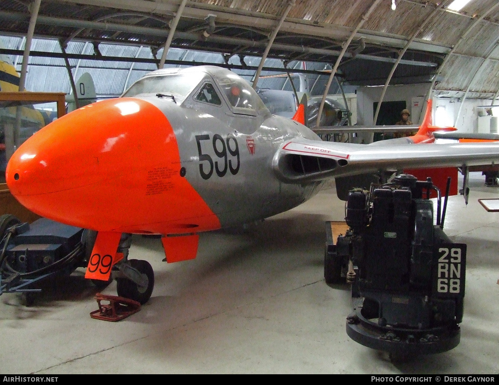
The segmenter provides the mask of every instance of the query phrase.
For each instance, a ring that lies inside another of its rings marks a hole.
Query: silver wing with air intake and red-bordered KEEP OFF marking
[[[499,163],[499,143],[369,145],[297,139],[276,151],[272,168],[285,183],[305,183],[404,168],[463,167]]]

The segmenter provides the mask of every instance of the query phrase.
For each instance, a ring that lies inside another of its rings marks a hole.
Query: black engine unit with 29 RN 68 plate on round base
[[[438,193],[436,224],[432,190]],[[349,229],[326,244],[324,277],[329,284],[346,278],[352,297],[362,300],[347,317],[354,341],[392,358],[459,344],[466,245],[443,231],[447,196],[441,213],[440,190],[431,179],[406,174],[349,192]]]

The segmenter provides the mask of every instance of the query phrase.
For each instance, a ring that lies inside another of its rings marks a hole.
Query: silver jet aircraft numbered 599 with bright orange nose
[[[293,119],[273,116],[230,70],[161,69],[35,133],[6,180],[29,210],[97,231],[85,277],[112,271],[119,296],[145,303],[154,273],[127,260],[132,233],[161,235],[167,262],[193,259],[200,232],[289,210],[328,178],[499,161],[497,143],[430,144],[430,110],[412,137],[325,142],[302,124],[302,105]]]

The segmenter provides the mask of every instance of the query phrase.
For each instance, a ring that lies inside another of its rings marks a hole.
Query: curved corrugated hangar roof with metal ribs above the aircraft
[[[392,0],[42,0],[34,36],[53,40],[35,42],[30,64],[61,67],[62,46],[73,68],[99,68],[122,90],[156,69],[178,13],[167,65],[217,63],[250,78],[268,50],[262,75],[283,73],[284,65],[305,71],[301,63],[307,62],[312,81],[319,79],[317,94],[328,75],[315,71],[330,70],[346,47],[337,71],[345,84],[383,85],[394,71],[390,84],[435,81],[435,90],[448,96],[498,92],[497,0],[472,0],[459,11],[450,10],[452,0],[394,2],[395,10]],[[4,53],[19,54],[15,37],[26,35],[32,4],[0,2],[0,34],[11,36]],[[50,68],[45,73],[50,76]]]

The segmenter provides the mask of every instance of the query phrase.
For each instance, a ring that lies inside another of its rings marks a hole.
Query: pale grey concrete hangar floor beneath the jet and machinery
[[[0,297],[2,374],[498,374],[499,213],[479,198],[498,187],[471,174],[468,206],[450,197],[445,231],[468,245],[461,342],[392,363],[345,332],[347,285],[323,279],[325,221],[344,218],[333,187],[244,232],[202,234],[198,257],[166,264],[159,239],[134,236],[156,284],[140,312],[117,323],[90,318],[94,286],[78,269],[32,307]],[[103,291],[116,295],[116,283]]]

